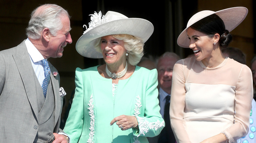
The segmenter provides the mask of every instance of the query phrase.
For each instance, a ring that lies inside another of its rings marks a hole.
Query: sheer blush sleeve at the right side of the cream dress
[[[230,142],[234,142],[248,133],[252,98],[252,73],[249,67],[243,65],[236,85],[234,124],[224,131],[231,139]]]

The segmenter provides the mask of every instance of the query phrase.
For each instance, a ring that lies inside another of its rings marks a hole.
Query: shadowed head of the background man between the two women
[[[157,65],[159,85],[165,92],[169,94],[171,93],[172,87],[173,66],[176,62],[176,58],[165,56],[159,59]]]

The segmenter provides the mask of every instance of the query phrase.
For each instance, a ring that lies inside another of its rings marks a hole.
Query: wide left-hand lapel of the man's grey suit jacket
[[[37,107],[37,94],[35,89],[34,70],[31,65],[30,56],[25,45],[25,40],[17,46],[16,54],[13,54],[13,59],[16,63],[18,71],[23,81],[23,85],[32,107],[32,110],[38,118],[38,107]]]

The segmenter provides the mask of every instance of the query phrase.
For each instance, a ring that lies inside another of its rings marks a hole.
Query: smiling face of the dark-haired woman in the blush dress
[[[187,35],[190,40],[189,48],[193,50],[198,61],[209,60],[213,56],[214,38],[190,27],[187,29]]]

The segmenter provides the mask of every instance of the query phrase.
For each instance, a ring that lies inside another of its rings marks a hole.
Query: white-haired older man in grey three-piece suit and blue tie
[[[59,75],[47,59],[62,56],[70,30],[68,12],[45,4],[32,12],[28,39],[0,52],[0,142],[69,142],[59,129]]]

